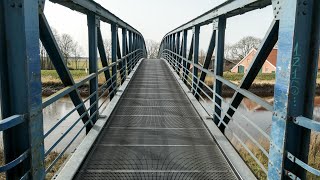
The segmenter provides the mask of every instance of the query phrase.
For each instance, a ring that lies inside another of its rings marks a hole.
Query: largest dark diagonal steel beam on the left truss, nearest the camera
[[[41,42],[45,47],[50,57],[50,60],[52,61],[63,85],[65,87],[73,86],[75,84],[74,80],[70,74],[68,67],[65,64],[64,57],[62,56],[59,46],[54,38],[54,35],[50,29],[50,26],[43,12],[40,12],[39,22],[40,22],[39,24],[40,24]],[[69,94],[69,96],[74,106],[78,106],[79,104],[82,104],[82,106],[77,110],[80,116],[83,113],[87,112],[86,107],[84,106],[83,101],[80,97],[79,91],[77,89],[72,91]],[[82,118],[83,123],[85,124],[88,121],[88,119],[89,119],[89,115],[85,115]],[[88,126],[86,127],[87,133],[90,131],[91,128],[92,128],[92,125],[88,124]]]

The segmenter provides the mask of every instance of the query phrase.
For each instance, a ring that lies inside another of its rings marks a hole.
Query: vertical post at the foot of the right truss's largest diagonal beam
[[[219,17],[218,19],[218,29],[216,32],[216,59],[214,63],[215,68],[215,76],[223,76],[223,63],[224,63],[224,41],[225,41],[225,29],[226,29],[226,18],[225,17]],[[214,116],[214,122],[216,124],[219,124],[219,118],[221,118],[221,99],[217,96],[219,95],[221,97],[222,95],[222,82],[215,80],[215,95],[214,95],[214,101],[215,104],[215,112],[219,116]],[[219,106],[219,107],[218,107]]]

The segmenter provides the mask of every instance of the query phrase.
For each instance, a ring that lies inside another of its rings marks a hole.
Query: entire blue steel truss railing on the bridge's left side
[[[81,132],[86,129],[88,133],[103,117],[101,114],[108,101],[147,53],[140,32],[94,1],[51,1],[87,16],[89,75],[78,81],[73,79],[44,14],[44,0],[0,2],[0,131],[3,131],[6,163],[0,167],[0,172],[6,172],[7,179],[44,179],[51,173]],[[107,58],[100,23],[111,26],[111,59]],[[118,29],[122,30],[121,44]],[[63,89],[44,99],[39,40],[64,85]],[[104,81],[98,82],[101,76]],[[80,96],[81,86],[89,87],[88,97]],[[43,110],[65,96],[71,99],[74,108],[44,131]],[[65,121],[70,122],[72,114],[78,114],[78,118],[71,119],[71,125],[62,134],[56,133]],[[53,142],[48,142],[49,136],[53,136]],[[58,145],[63,148],[51,159],[49,155]]]

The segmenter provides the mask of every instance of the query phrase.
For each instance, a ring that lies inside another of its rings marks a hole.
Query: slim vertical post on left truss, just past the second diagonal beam
[[[117,62],[117,34],[118,34],[118,27],[117,24],[111,24],[111,59],[112,63]],[[113,89],[117,89],[117,64],[112,67],[112,84]],[[116,90],[114,90],[116,91]],[[116,92],[114,92],[115,94]]]

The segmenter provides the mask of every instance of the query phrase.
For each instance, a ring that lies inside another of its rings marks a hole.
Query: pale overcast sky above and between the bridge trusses
[[[97,3],[129,23],[142,33],[145,39],[160,42],[172,29],[203,14],[225,0],[96,0]],[[45,14],[51,27],[58,33],[70,34],[87,54],[86,16],[47,1]],[[237,42],[244,36],[263,38],[272,21],[272,9],[249,12],[227,21],[226,43]],[[104,38],[110,39],[110,26],[102,24]],[[201,28],[200,48],[206,50],[212,26]],[[189,33],[191,34],[191,33]],[[189,38],[190,40],[190,38]]]

